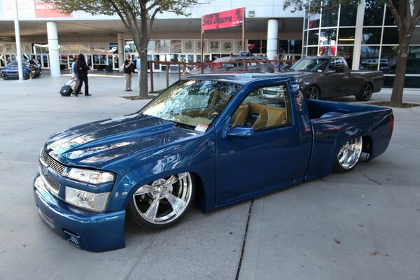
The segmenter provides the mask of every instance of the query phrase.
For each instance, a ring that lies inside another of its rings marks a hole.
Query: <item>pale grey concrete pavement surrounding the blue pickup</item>
[[[420,107],[394,109],[388,150],[353,172],[208,214],[195,204],[167,230],[127,221],[125,248],[90,253],[39,217],[38,153],[54,132],[148,101],[121,98],[123,76],[90,76],[92,96],[77,98],[59,95],[66,80],[0,80],[0,279],[420,279]],[[164,75],[155,82],[162,88]],[[407,90],[404,102],[420,103],[420,91]]]

